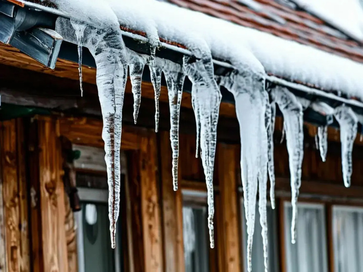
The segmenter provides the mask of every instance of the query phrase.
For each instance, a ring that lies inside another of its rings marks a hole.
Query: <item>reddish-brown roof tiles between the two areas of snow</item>
[[[320,18],[284,5],[277,0],[255,0],[261,5],[261,9],[258,10],[237,0],[230,2],[218,0],[168,1],[184,8],[363,62],[363,46],[357,41],[345,36]]]

